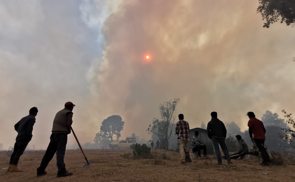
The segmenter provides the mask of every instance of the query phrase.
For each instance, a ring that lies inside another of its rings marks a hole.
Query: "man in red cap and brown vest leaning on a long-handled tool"
[[[42,158],[40,166],[37,168],[37,177],[43,176],[47,172],[45,171],[48,163],[53,158],[56,152],[56,163],[58,172],[56,177],[71,176],[73,173],[69,173],[65,169],[64,157],[65,149],[68,141],[68,134],[71,133],[71,125],[73,123],[73,108],[72,102],[65,103],[65,108],[56,113],[53,120],[52,134],[50,136],[50,143],[47,147],[45,155]]]

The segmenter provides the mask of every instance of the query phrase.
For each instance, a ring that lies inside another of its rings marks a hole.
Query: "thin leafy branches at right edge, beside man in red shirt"
[[[287,119],[285,122],[288,124],[291,124],[293,129],[291,128],[282,128],[282,130],[285,132],[283,135],[283,138],[289,142],[292,146],[294,146],[294,141],[292,140],[295,138],[295,121],[292,117],[291,113],[287,113],[285,110],[282,110],[282,112],[285,114],[285,118]]]

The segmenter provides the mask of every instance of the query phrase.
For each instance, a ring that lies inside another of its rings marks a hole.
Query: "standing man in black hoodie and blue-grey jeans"
[[[207,125],[207,132],[208,132],[208,137],[212,139],[218,164],[222,165],[219,145],[225,155],[225,159],[227,160],[227,163],[232,164],[232,162],[230,161],[230,155],[228,154],[228,150],[225,144],[225,138],[226,138],[226,132],[227,132],[226,128],[223,122],[217,118],[217,112],[212,112],[211,117],[212,119],[211,121],[209,121]]]

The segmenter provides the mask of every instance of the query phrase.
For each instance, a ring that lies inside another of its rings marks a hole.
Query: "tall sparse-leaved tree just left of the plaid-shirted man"
[[[179,98],[174,98],[174,100],[160,104],[160,119],[154,118],[152,124],[147,129],[149,134],[158,136],[161,149],[166,148],[174,129],[176,121],[175,111],[178,103]]]

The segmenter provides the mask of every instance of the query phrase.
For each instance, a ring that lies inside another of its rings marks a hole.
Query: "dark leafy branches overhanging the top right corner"
[[[258,0],[257,12],[266,20],[263,27],[269,28],[270,24],[277,21],[285,22],[287,26],[295,25],[295,1],[294,0]]]

